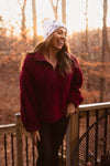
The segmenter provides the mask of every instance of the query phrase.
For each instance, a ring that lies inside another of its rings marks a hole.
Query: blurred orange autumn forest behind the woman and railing
[[[29,1],[31,4],[29,12],[32,15],[31,21],[33,23],[30,28],[26,25],[29,19],[26,6]],[[0,4],[2,7],[2,9],[0,8],[2,11],[0,12],[0,124],[13,123],[14,114],[20,112],[19,76],[21,61],[26,51],[32,50],[37,42],[43,40],[40,34],[37,11],[41,10],[40,2],[44,6],[46,1],[48,1],[52,10],[50,17],[61,19],[66,25],[69,24],[68,27],[70,27],[74,17],[74,10],[70,15],[67,12],[70,0],[16,0],[15,3],[19,8],[16,20],[10,18],[8,11]],[[73,1],[75,6],[76,0]],[[12,0],[10,0],[11,2]],[[108,12],[110,0],[97,0],[101,4],[102,11],[102,15],[99,14],[101,27],[97,28],[89,28],[90,2],[91,0],[81,0],[84,27],[78,31],[75,31],[72,27],[67,38],[70,52],[78,59],[84,74],[81,92],[85,101],[82,104],[110,101],[110,25],[108,24],[108,20],[110,20],[110,13]],[[0,3],[2,3],[2,0],[0,0]],[[45,8],[46,12],[48,4]],[[45,18],[45,13],[43,17]]]

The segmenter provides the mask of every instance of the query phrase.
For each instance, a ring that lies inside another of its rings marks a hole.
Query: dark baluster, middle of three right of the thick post
[[[96,110],[96,121],[98,121],[99,113]],[[95,166],[97,165],[97,154],[98,154],[98,123],[96,124],[96,138],[95,138]]]

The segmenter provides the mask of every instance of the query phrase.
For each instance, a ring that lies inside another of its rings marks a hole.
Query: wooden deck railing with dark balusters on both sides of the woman
[[[73,154],[79,138],[88,129],[88,127],[106,112],[110,112],[110,102],[80,105],[77,114],[73,114],[70,116],[66,134],[66,158],[64,159],[66,160],[66,164],[62,163],[62,166],[78,166],[78,154],[75,154],[76,160],[74,164]],[[107,123],[105,123],[105,125],[107,125]],[[32,144],[30,134],[21,124],[20,114],[15,114],[15,124],[0,126],[1,166],[34,166],[36,156],[37,152]]]

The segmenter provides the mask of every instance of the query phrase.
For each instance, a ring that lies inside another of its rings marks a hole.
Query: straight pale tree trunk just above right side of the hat
[[[66,24],[66,0],[62,0],[62,21]]]

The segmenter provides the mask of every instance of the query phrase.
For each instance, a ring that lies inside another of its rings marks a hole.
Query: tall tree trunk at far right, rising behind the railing
[[[102,51],[101,51],[101,63],[106,62],[107,55],[107,8],[108,1],[103,0],[103,28],[102,28]],[[102,64],[105,70],[105,65]],[[103,102],[106,91],[106,79],[100,77],[100,102]]]

